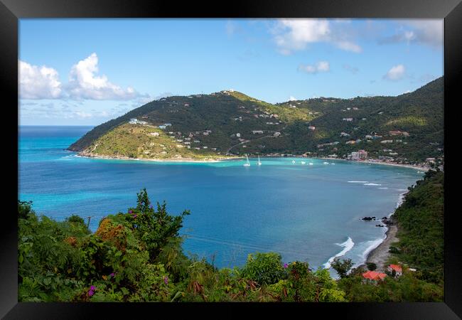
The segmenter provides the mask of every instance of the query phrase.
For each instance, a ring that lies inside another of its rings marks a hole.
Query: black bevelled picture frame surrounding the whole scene
[[[220,315],[249,316],[247,311],[269,312],[274,316],[322,316],[335,314],[342,319],[460,319],[462,317],[462,238],[459,231],[460,209],[449,210],[448,176],[445,182],[445,285],[441,303],[345,303],[345,304],[57,304],[18,303],[17,215],[14,184],[18,184],[18,136],[14,121],[18,119],[18,19],[21,18],[444,18],[444,127],[445,154],[450,114],[461,90],[462,4],[461,0],[253,0],[210,3],[188,1],[180,4],[166,0],[0,0],[0,84],[2,107],[6,112],[2,155],[8,174],[4,192],[9,206],[3,210],[0,232],[0,316],[4,319],[73,319],[90,318],[102,312],[103,319],[114,316],[134,316],[149,312],[159,316],[159,310],[176,316],[179,311],[207,316],[208,308]],[[11,128],[10,128],[11,127]],[[8,129],[6,129],[8,128]],[[447,156],[446,156],[447,158]],[[449,170],[451,163],[450,158]],[[445,171],[447,171],[447,159]],[[450,180],[455,178],[450,178]],[[245,313],[237,309],[247,309]],[[222,310],[226,309],[226,310]],[[134,313],[136,312],[136,313]],[[296,313],[297,312],[297,313]]]

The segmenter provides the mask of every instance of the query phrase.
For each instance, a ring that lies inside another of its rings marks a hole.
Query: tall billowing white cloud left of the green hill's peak
[[[123,89],[109,82],[106,75],[97,76],[98,57],[92,53],[72,66],[67,85],[72,99],[131,100],[141,95],[132,87]]]

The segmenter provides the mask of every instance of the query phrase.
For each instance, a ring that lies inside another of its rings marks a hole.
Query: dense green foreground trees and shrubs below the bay
[[[443,179],[429,171],[396,213],[402,242],[393,259],[417,272],[404,265],[402,277],[379,283],[363,282],[362,268],[348,272],[348,260],[333,262],[336,280],[276,252],[249,255],[234,269],[186,257],[179,230],[189,211],[169,215],[145,189],[136,207],[104,217],[95,233],[77,215],[58,222],[18,201],[18,301],[441,302]]]

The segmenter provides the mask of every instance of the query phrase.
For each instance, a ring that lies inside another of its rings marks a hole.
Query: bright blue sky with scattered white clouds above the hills
[[[170,95],[395,96],[444,73],[444,20],[20,19],[20,125],[97,125]]]

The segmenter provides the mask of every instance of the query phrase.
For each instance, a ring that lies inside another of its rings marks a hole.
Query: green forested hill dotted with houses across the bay
[[[442,77],[397,97],[279,104],[232,90],[166,97],[95,127],[69,150],[154,159],[307,153],[344,158],[365,149],[372,158],[416,163],[444,154],[443,97]],[[129,124],[132,118],[146,123]]]

